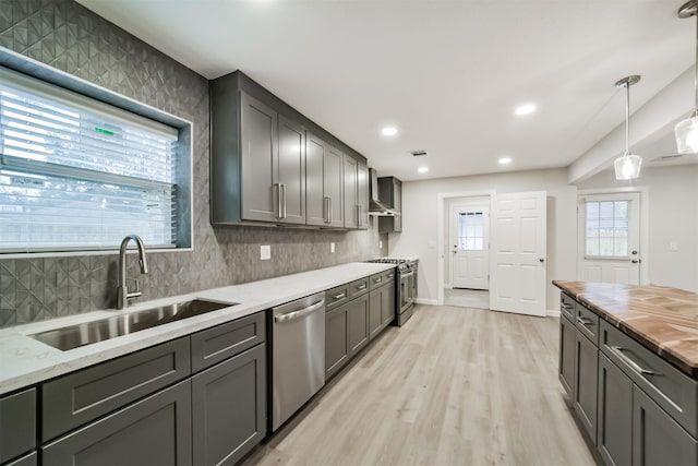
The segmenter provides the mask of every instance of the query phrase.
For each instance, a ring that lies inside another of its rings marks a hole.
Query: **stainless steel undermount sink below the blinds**
[[[237,303],[221,303],[194,299],[192,301],[176,302],[169,306],[115,315],[112,318],[64,326],[27,336],[65,351],[77,348],[79,346],[104,342],[105,339],[128,335],[231,306],[237,306]]]

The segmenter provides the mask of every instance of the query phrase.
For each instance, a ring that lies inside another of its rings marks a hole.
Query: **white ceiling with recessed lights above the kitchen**
[[[568,166],[624,121],[615,81],[642,75],[636,109],[693,65],[684,1],[79,0],[208,79],[242,70],[402,180]]]

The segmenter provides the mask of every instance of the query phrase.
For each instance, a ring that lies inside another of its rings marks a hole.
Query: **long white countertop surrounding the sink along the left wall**
[[[122,311],[94,311],[0,330],[0,394],[243,318],[393,267],[392,264],[353,262],[312,272],[139,302]],[[68,351],[61,351],[26,336],[194,298],[237,302],[238,304]]]

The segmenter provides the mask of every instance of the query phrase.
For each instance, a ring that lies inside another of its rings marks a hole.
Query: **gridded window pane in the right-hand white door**
[[[586,202],[587,258],[627,258],[629,201]]]

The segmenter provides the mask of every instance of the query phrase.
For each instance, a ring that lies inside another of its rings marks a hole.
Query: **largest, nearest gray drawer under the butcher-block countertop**
[[[642,345],[601,322],[600,348],[691,435],[698,437],[698,382]]]

